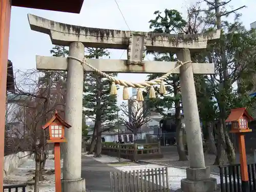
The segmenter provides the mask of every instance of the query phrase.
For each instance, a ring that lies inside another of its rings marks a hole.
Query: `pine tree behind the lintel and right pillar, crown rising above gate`
[[[185,20],[182,18],[180,12],[177,10],[165,9],[164,12],[155,11],[155,19],[150,20],[150,29],[154,29],[155,33],[181,33],[186,26]],[[147,52],[147,54],[153,53],[154,60],[158,61],[175,61],[175,53],[173,52]],[[162,74],[149,75],[148,80],[152,80],[156,77],[160,77]],[[165,110],[175,108],[175,124],[176,124],[176,140],[177,150],[179,153],[179,160],[187,160],[185,147],[183,143],[183,130],[181,127],[181,94],[180,94],[180,83],[179,75],[172,74],[164,80],[166,84],[166,91],[168,96],[160,95],[159,90],[155,88],[157,98],[153,100],[153,103],[148,105],[154,105],[155,111],[169,118],[169,114],[165,113]],[[173,96],[170,96],[173,95]],[[148,102],[152,102],[147,100]]]

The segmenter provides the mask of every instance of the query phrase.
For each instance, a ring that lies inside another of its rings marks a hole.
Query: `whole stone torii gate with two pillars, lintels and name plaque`
[[[84,47],[127,49],[127,60],[87,59],[94,68],[102,72],[116,73],[167,73],[176,69],[175,62],[143,61],[144,51],[172,51],[180,61],[186,62],[180,69],[182,102],[187,134],[189,168],[187,177],[181,180],[183,192],[215,191],[216,180],[210,178],[210,169],[205,167],[196,90],[195,74],[214,74],[213,63],[191,63],[190,51],[201,51],[207,41],[218,39],[220,31],[209,34],[173,35],[135,31],[96,29],[62,24],[28,15],[32,30],[50,35],[52,44],[69,46],[69,56],[36,56],[38,70],[68,71],[66,120],[73,129],[66,131],[68,142],[63,162],[63,191],[85,191],[85,181],[81,178],[81,125]],[[190,61],[190,62],[189,62]],[[94,71],[84,67],[87,72]]]

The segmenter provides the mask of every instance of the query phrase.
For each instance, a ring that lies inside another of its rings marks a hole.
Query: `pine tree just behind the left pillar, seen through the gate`
[[[109,57],[109,52],[102,48],[88,48],[87,58]],[[116,74],[110,74],[116,76]],[[87,73],[84,78],[83,107],[84,114],[95,122],[90,152],[95,148],[95,157],[101,156],[101,133],[116,125],[117,97],[110,95],[111,82],[97,73]]]

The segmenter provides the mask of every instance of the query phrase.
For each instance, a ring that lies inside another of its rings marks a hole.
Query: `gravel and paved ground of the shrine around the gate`
[[[186,178],[185,168],[188,167],[188,161],[178,161],[179,156],[175,146],[162,147],[164,158],[143,160],[136,163],[127,159],[118,159],[102,155],[101,158],[93,158],[92,155],[82,154],[82,178],[86,179],[87,191],[110,191],[110,172],[125,172],[129,170],[161,168],[168,167],[168,180],[170,191],[177,191],[180,188],[180,180]],[[239,154],[237,154],[238,156]],[[237,161],[239,158],[237,157]],[[247,155],[248,163],[253,162],[253,155]],[[219,167],[212,165],[215,161],[215,155],[205,154],[205,163],[211,167],[211,177],[217,179],[220,183]],[[227,162],[227,161],[226,161]],[[238,161],[239,162],[239,161]],[[61,160],[62,165],[62,160]],[[54,192],[54,160],[50,155],[46,164],[44,173],[45,181],[40,182],[40,192]],[[30,157],[23,165],[14,170],[4,179],[5,184],[28,184],[26,191],[33,191],[34,160]]]

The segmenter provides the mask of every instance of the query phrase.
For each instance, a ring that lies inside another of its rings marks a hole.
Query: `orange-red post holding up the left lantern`
[[[61,192],[60,143],[54,143],[55,192]]]

